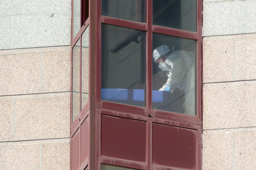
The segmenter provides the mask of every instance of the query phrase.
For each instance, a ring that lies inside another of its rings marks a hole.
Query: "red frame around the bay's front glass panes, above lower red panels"
[[[186,123],[194,123],[201,125],[201,100],[202,100],[202,60],[201,60],[201,41],[202,41],[202,24],[201,24],[201,0],[197,0],[197,32],[188,32],[176,30],[173,28],[165,28],[152,25],[152,1],[147,1],[147,21],[146,23],[132,22],[117,18],[111,18],[101,15],[101,0],[97,0],[97,26],[96,26],[96,107],[100,109],[111,109],[115,111],[129,111],[138,115],[148,115],[160,119],[169,119],[173,121],[182,121]],[[123,105],[101,100],[101,24],[112,24],[126,28],[146,31],[146,107],[136,107],[131,105]],[[183,115],[168,111],[160,111],[152,109],[152,33],[166,34],[181,38],[189,38],[197,40],[197,116]]]

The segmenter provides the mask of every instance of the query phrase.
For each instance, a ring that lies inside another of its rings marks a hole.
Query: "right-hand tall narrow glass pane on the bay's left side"
[[[81,109],[89,100],[89,26],[82,34],[82,101]]]

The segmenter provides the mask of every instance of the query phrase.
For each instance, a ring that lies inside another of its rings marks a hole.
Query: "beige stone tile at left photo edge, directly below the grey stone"
[[[40,53],[0,55],[0,96],[39,93]]]

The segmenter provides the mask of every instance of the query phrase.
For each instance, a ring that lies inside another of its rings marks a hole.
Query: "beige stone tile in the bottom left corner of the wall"
[[[39,145],[0,146],[2,170],[36,170],[40,168]]]

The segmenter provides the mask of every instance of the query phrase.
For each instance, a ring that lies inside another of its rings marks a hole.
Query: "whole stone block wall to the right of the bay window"
[[[203,1],[202,169],[256,168],[256,1]]]

